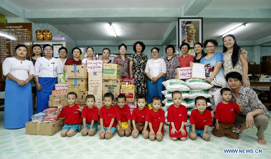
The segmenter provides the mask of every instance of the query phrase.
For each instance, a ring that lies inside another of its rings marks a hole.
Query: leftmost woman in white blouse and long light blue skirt
[[[27,53],[25,45],[15,47],[16,57],[6,58],[3,62],[3,75],[6,76],[5,115],[6,129],[25,127],[31,120],[32,89],[29,81],[34,77],[34,66],[24,57]]]

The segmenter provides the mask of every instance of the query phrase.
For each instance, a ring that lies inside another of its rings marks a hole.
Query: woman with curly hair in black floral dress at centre
[[[145,45],[141,41],[137,41],[133,45],[135,54],[129,57],[130,78],[135,78],[136,95],[146,96],[147,94],[147,76],[145,75],[145,66],[148,57],[143,54]]]

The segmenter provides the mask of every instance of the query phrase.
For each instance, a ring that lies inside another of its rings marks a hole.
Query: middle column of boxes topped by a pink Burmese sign
[[[95,97],[95,106],[100,110],[103,106],[103,61],[87,61],[87,70],[89,74],[88,94]]]

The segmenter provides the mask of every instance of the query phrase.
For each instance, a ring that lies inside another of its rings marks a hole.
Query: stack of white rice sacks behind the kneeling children
[[[166,87],[166,90],[162,91],[166,99],[164,99],[163,104],[165,105],[162,109],[165,112],[165,122],[167,125],[170,125],[167,122],[167,109],[174,102],[172,101],[172,92],[180,91],[182,93],[182,105],[187,108],[187,122],[185,126],[189,126],[191,111],[197,109],[195,107],[195,98],[198,96],[204,96],[205,98],[210,98],[211,95],[206,91],[213,87],[213,85],[201,79],[192,79],[189,78],[185,82],[180,79],[171,79],[163,82],[163,85]],[[184,100],[185,99],[185,100]],[[211,104],[208,102],[207,107]]]

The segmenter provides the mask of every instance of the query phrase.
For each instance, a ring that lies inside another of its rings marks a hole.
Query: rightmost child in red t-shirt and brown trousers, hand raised
[[[235,111],[242,114],[244,108],[242,103],[237,98],[237,104],[229,102],[232,99],[232,91],[229,88],[222,88],[220,96],[223,101],[218,103],[215,111],[216,126],[212,133],[216,137],[221,137],[224,134],[230,139],[239,139],[239,129],[235,128],[233,122],[235,120]]]

